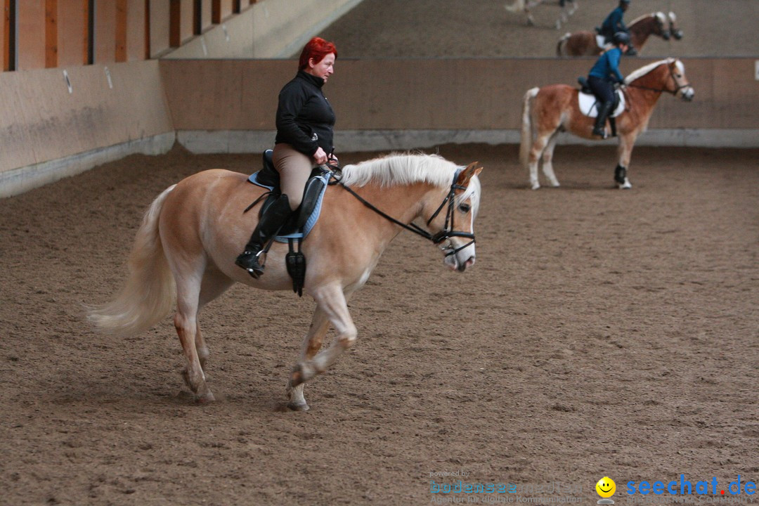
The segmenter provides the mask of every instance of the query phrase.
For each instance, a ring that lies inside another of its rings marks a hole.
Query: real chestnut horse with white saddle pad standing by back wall
[[[673,58],[656,61],[632,72],[625,79],[622,90],[625,93],[625,110],[616,118],[619,162],[614,181],[620,188],[630,188],[627,178],[630,155],[638,134],[646,130],[653,106],[663,92],[680,96],[688,102],[693,99],[694,92],[685,77],[682,61]],[[567,130],[578,137],[597,139],[591,134],[595,118],[580,112],[579,91],[566,84],[551,84],[532,88],[524,94],[519,159],[530,171],[533,190],[540,188],[537,164],[541,157],[543,174],[550,184],[559,186],[559,180],[553,173],[553,149],[559,132]]]

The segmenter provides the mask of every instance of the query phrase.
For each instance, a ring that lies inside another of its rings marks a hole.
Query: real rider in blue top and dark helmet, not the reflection
[[[619,72],[619,58],[628,50],[630,36],[625,32],[617,32],[613,36],[613,42],[614,47],[600,55],[587,75],[587,85],[599,102],[593,134],[602,139],[606,139],[606,118],[614,106],[614,83],[625,82],[625,77]]]

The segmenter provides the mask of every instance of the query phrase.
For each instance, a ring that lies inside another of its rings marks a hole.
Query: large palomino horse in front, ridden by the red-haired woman
[[[400,231],[408,228],[438,244],[450,269],[464,272],[474,264],[481,170],[434,155],[392,155],[347,165],[340,184],[328,187],[320,219],[303,243],[308,257],[304,289],[317,308],[289,378],[288,407],[307,410],[304,382],[325,372],[356,341],[347,300]],[[235,266],[257,222],[256,212],[243,210],[264,191],[246,178],[215,169],[164,190],[137,231],[121,293],[89,312],[100,331],[128,336],[159,322],[176,299],[184,380],[201,402],[213,401],[213,394],[203,373],[209,350],[198,325],[200,309],[235,281],[263,290],[292,288],[285,244],[272,245],[259,279]],[[417,219],[426,226],[413,224]],[[335,338],[320,351],[330,324]]]

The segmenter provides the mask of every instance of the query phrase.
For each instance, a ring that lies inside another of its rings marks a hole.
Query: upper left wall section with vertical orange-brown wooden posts
[[[255,0],[0,0],[2,70],[157,58],[254,4]],[[11,68],[8,33],[14,5],[18,64]]]

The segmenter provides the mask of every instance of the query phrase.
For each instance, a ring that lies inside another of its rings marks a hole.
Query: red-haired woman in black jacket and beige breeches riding
[[[314,167],[332,156],[335,112],[322,86],[334,72],[337,49],[332,42],[313,37],[301,52],[298,74],[279,92],[273,161],[279,172],[282,194],[261,216],[257,227],[235,263],[254,278],[263,274],[258,256],[266,242],[279,231],[291,211],[298,209]]]

